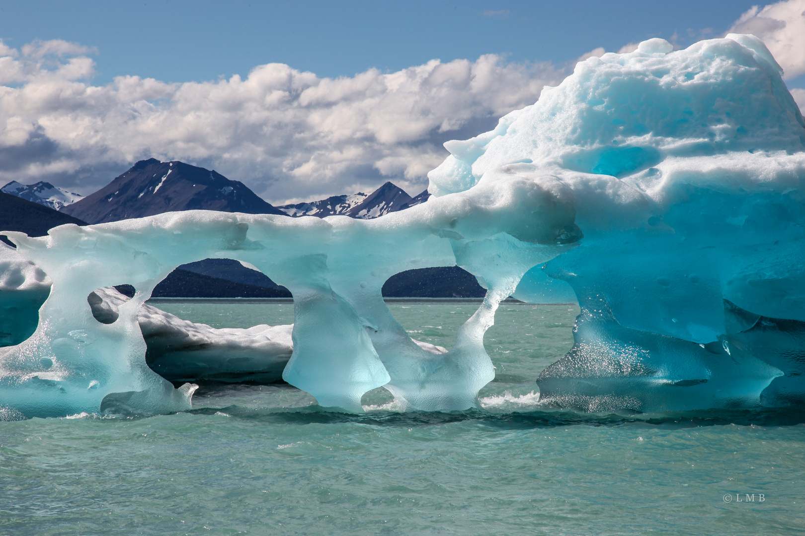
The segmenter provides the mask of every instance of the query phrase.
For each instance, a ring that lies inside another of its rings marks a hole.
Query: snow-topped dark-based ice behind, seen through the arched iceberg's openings
[[[0,255],[6,264],[0,264],[0,269],[5,268],[0,272],[4,276],[0,282],[7,287],[17,277],[17,284],[13,289],[0,287],[0,325],[10,331],[2,333],[0,346],[13,346],[34,333],[36,312],[50,292],[50,278],[14,249],[2,247]],[[12,262],[16,265],[9,268]],[[26,269],[31,271],[28,277],[20,274]],[[87,297],[93,317],[102,324],[117,321],[119,306],[129,300],[114,287],[96,288]],[[140,306],[137,321],[146,342],[147,365],[171,383],[278,382],[294,349],[293,324],[216,329],[148,304]],[[412,340],[431,354],[447,352],[442,346]]]

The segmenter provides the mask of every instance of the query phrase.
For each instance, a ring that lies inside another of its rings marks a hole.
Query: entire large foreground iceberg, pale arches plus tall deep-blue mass
[[[361,411],[386,387],[403,407],[477,406],[502,299],[577,300],[575,344],[537,379],[584,411],[805,403],[805,121],[752,35],[681,51],[650,39],[576,65],[496,129],[449,141],[431,198],[373,220],[186,211],[48,236],[7,232],[52,279],[31,338],[0,349],[15,415],[179,411],[146,364],[138,310],[180,264],[241,260],[289,288],[283,378]],[[488,289],[447,352],[414,342],[382,301],[388,277],[459,265]],[[133,284],[118,319],[95,289]]]

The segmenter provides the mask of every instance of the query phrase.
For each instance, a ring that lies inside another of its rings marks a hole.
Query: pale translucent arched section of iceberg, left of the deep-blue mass
[[[188,407],[192,387],[174,390],[147,368],[137,311],[176,266],[226,257],[294,294],[294,351],[283,378],[321,405],[362,411],[361,395],[386,386],[412,408],[473,407],[493,378],[483,333],[498,302],[532,266],[573,247],[581,237],[573,217],[549,179],[493,182],[375,220],[187,211],[56,227],[39,238],[9,232],[50,275],[52,290],[33,336],[0,349],[0,405],[23,415]],[[396,272],[452,264],[489,291],[456,347],[435,354],[394,321],[381,288]],[[89,293],[124,283],[137,293],[116,321],[97,321]]]

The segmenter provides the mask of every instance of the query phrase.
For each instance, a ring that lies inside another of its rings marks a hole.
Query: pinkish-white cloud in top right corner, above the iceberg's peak
[[[757,35],[785,71],[786,80],[805,74],[805,0],[753,6],[727,33]]]

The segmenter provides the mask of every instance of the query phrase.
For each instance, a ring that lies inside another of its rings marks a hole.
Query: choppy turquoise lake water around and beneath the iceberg
[[[292,317],[156,305],[217,327]],[[449,347],[476,306],[390,309]],[[803,534],[802,411],[539,407],[533,381],[576,312],[502,305],[483,411],[402,414],[372,391],[365,415],[345,415],[286,385],[205,385],[176,415],[2,422],[0,534]]]

